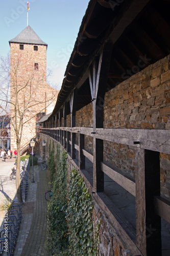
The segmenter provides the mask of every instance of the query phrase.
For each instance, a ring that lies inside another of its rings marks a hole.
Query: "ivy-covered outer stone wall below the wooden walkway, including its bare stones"
[[[49,255],[130,256],[67,153],[48,136],[41,134],[40,140],[47,144],[53,191],[47,212]]]

